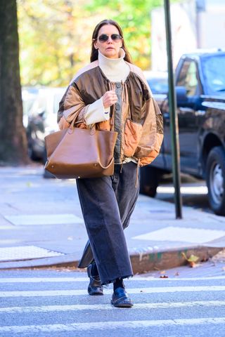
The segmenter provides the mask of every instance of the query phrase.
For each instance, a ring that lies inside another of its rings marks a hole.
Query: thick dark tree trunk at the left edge
[[[0,1],[0,165],[27,164],[16,0]]]

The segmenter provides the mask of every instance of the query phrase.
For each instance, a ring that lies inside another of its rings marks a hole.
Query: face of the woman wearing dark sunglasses
[[[107,41],[105,35],[108,36]],[[112,39],[112,35],[116,39]],[[99,39],[100,37],[100,39]],[[101,39],[103,37],[103,39]],[[122,39],[120,39],[120,32],[114,25],[104,25],[98,31],[98,38],[94,42],[94,46],[98,49],[106,58],[119,58],[120,48],[122,47]]]

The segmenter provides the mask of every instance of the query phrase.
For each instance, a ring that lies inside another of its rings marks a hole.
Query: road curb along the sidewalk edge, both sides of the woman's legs
[[[198,256],[198,262],[206,261],[212,256],[223,250],[223,247],[207,247],[195,246],[169,251],[144,251],[139,253],[130,253],[131,264],[134,274],[142,274],[153,270],[167,270],[173,267],[186,265],[187,261],[182,253],[185,253],[187,258],[191,254]],[[68,254],[60,257],[39,258],[34,260],[7,261],[0,263],[0,270],[12,269],[38,269],[38,268],[77,268],[78,260],[73,254]]]

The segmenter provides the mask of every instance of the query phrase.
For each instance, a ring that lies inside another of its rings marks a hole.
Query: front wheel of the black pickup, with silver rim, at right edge
[[[211,209],[225,216],[225,152],[223,147],[214,147],[207,157],[206,183]]]

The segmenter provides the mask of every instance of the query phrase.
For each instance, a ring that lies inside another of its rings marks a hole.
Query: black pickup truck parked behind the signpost
[[[176,67],[181,172],[206,180],[214,213],[225,216],[225,51],[183,55]],[[163,114],[161,153],[141,169],[141,193],[155,196],[163,173],[172,171],[167,95],[155,95]]]

